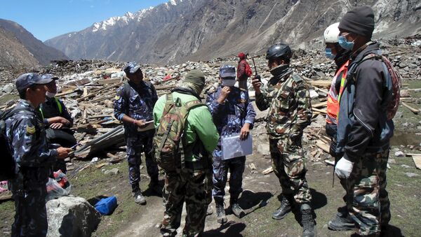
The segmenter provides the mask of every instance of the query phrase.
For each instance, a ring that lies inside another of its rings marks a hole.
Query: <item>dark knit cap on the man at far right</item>
[[[374,13],[369,6],[359,6],[345,13],[338,28],[371,38],[374,31]]]

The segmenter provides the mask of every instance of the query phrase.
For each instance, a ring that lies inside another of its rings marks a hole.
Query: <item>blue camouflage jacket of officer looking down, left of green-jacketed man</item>
[[[114,98],[114,116],[120,121],[123,115],[134,120],[154,120],[152,112],[157,100],[158,96],[151,82],[142,81],[140,85],[129,82],[128,85],[122,85],[117,89]],[[135,124],[124,123],[124,130],[128,136],[138,133]]]

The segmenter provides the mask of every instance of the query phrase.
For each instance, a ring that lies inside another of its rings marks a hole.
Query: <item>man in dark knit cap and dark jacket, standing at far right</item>
[[[338,116],[337,151],[345,154],[335,173],[347,179],[348,192],[354,194],[347,208],[358,234],[377,236],[390,220],[386,168],[394,129],[387,116],[392,79],[382,61],[366,58],[381,55],[379,44],[371,41],[374,13],[370,7],[350,10],[338,28],[338,43],[352,54]],[[334,221],[333,226],[341,226]]]

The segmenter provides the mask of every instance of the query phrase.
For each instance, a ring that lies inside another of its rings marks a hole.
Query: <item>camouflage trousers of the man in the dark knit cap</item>
[[[359,227],[358,234],[379,234],[380,226],[390,220],[390,202],[386,191],[386,170],[389,150],[378,154],[365,154],[354,164],[347,180],[349,214]]]

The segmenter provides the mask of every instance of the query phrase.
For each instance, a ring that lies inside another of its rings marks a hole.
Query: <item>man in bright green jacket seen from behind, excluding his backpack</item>
[[[173,99],[181,103],[201,101],[205,76],[199,70],[187,73],[180,87],[171,92]],[[156,102],[154,124],[159,127],[166,95]],[[186,224],[182,236],[200,236],[205,229],[206,210],[212,201],[212,152],[218,143],[218,130],[212,121],[208,108],[196,106],[189,110],[182,143],[185,168],[180,171],[166,171],[163,193],[163,221],[161,234],[176,236],[180,227],[182,206],[186,203]]]

